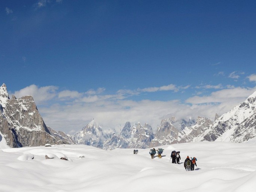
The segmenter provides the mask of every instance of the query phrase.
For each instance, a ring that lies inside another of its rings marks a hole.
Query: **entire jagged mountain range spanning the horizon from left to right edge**
[[[126,122],[118,134],[100,127],[93,119],[81,131],[69,136],[45,125],[31,96],[10,99],[3,84],[0,87],[0,133],[0,141],[3,135],[10,147],[86,144],[111,150],[204,140],[241,143],[256,136],[256,92],[228,113],[216,114],[214,121],[205,117],[177,121],[171,117],[163,119],[156,132],[149,124]]]

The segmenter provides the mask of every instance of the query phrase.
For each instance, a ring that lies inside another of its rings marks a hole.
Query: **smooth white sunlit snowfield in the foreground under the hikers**
[[[106,151],[85,145],[2,149],[0,191],[253,192],[255,143],[203,141],[161,146],[161,159],[151,159],[149,149],[138,149],[137,155],[133,149]],[[173,150],[180,151],[181,165],[169,162]],[[45,159],[46,154],[64,154],[69,161]],[[85,157],[79,158],[81,154]],[[195,171],[183,167],[188,155],[198,159]]]

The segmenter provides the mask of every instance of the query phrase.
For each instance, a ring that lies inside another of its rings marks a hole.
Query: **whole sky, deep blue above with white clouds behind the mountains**
[[[0,83],[46,125],[214,118],[256,91],[255,1],[2,0]]]

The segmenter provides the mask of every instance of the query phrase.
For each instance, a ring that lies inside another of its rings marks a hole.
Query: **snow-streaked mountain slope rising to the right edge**
[[[220,116],[193,141],[246,142],[256,136],[256,92]]]

